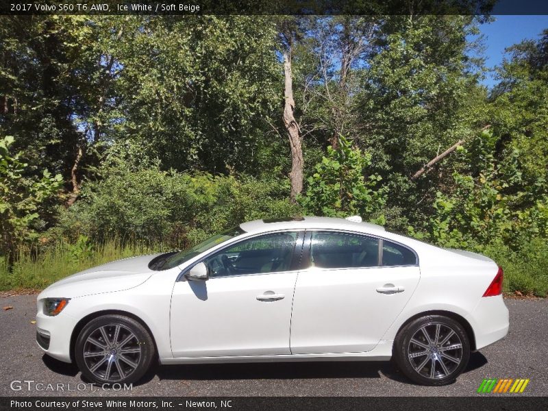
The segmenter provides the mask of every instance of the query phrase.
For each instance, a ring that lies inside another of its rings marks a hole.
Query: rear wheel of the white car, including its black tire
[[[444,341],[445,338],[449,339]],[[398,368],[413,382],[443,386],[451,384],[464,371],[470,358],[470,341],[457,321],[429,315],[400,330],[393,352]],[[458,364],[455,360],[459,360]]]

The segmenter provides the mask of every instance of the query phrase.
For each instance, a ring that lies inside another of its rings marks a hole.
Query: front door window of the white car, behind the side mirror
[[[297,232],[266,234],[243,240],[204,260],[210,277],[290,271]]]

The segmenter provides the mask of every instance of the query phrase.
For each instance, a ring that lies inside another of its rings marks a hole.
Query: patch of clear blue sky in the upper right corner
[[[548,15],[536,16],[494,16],[493,23],[485,23],[479,26],[484,34],[486,46],[486,66],[493,69],[502,62],[504,49],[526,38],[540,38],[543,29],[548,29]],[[487,75],[483,84],[492,88],[497,84],[493,75]]]

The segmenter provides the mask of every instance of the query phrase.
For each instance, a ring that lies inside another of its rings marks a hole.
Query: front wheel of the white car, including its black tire
[[[78,335],[74,352],[82,375],[98,384],[137,382],[155,359],[154,342],[147,329],[118,314],[87,323]]]

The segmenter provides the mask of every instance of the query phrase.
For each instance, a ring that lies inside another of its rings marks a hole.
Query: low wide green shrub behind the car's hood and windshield
[[[242,221],[299,214],[278,180],[184,174],[156,168],[114,170],[87,182],[62,213],[57,238],[121,238],[186,247]]]

